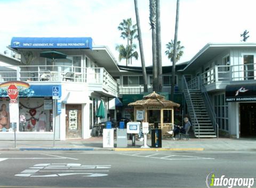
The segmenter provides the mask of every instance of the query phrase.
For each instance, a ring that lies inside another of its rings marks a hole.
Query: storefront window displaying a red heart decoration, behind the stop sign
[[[52,100],[46,98],[20,98],[21,132],[52,131]]]

